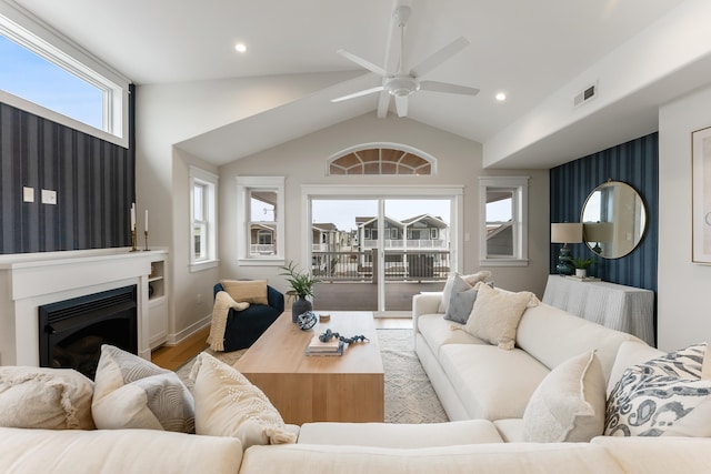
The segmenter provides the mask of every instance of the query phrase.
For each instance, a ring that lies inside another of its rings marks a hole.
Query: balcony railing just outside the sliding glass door
[[[387,281],[447,280],[450,271],[449,251],[385,250]],[[323,281],[374,282],[378,278],[374,250],[360,252],[312,252],[311,271]]]

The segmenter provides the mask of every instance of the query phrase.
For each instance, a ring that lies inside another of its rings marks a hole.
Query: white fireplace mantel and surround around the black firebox
[[[138,286],[138,352],[150,360],[148,275],[167,250],[128,248],[0,255],[0,365],[39,365],[39,306]]]

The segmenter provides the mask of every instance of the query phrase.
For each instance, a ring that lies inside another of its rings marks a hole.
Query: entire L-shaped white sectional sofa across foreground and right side
[[[240,382],[241,375],[230,373],[229,366],[214,362],[211,365],[206,359],[197,372],[200,390],[193,392],[194,413],[198,430],[211,435],[137,428],[0,427],[0,472],[711,472],[711,437],[597,435],[589,442],[521,441],[527,404],[535,397],[537,387],[550,380],[548,375],[557,373],[571,357],[595,350],[600,361],[598,375],[607,381],[609,393],[627,367],[658,357],[662,352],[633,336],[543,304],[524,311],[517,347],[503,350],[444,320],[438,312],[440,299],[438,294],[414,297],[415,350],[451,422],[307,423],[287,426],[298,435],[293,444],[263,445],[252,441],[249,445],[241,441],[246,440],[239,434],[242,428],[230,432],[229,424],[239,416],[249,424],[260,413],[242,411],[240,415],[239,411],[246,409],[228,400],[239,399],[234,394],[249,389]],[[223,389],[229,390],[221,392]],[[603,382],[600,391],[604,391]],[[703,400],[708,399],[707,394]],[[221,406],[223,403],[231,405]],[[249,402],[247,409],[254,406],[258,405]],[[703,410],[708,409],[702,406],[702,414],[708,416]],[[270,424],[272,418],[264,420],[262,423]],[[707,423],[702,417],[697,424],[711,426],[711,420]],[[262,424],[250,426],[252,440],[262,436]]]

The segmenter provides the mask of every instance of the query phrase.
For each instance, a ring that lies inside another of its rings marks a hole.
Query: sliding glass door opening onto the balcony
[[[311,196],[314,306],[409,312],[452,265],[452,198]]]

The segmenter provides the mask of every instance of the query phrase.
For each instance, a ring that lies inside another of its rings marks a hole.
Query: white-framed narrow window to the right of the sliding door
[[[480,179],[481,265],[528,264],[528,178]]]

